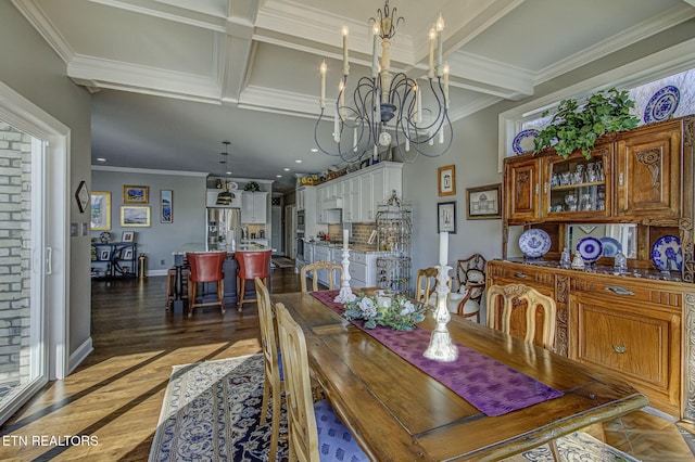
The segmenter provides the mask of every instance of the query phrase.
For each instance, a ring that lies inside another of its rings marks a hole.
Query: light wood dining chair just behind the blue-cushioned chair
[[[258,298],[258,321],[261,324],[261,345],[263,346],[263,363],[265,381],[263,385],[263,403],[261,405],[261,425],[265,425],[268,403],[273,399],[270,419],[270,449],[268,460],[275,461],[280,435],[280,407],[283,388],[282,363],[279,355],[276,320],[270,305],[270,294],[261,278],[255,278],[256,297]]]

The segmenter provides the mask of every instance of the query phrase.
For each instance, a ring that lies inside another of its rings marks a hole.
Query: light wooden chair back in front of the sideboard
[[[514,335],[518,326],[511,326],[513,311],[523,309],[526,306],[525,342],[539,343],[545,349],[553,350],[555,342],[555,318],[557,308],[552,297],[541,294],[533,287],[523,284],[491,285],[488,287],[486,320],[488,326],[501,330],[506,334]],[[526,305],[525,305],[526,303]],[[541,315],[539,308],[543,309],[541,337],[536,339],[536,323]],[[518,319],[519,317],[515,317]]]

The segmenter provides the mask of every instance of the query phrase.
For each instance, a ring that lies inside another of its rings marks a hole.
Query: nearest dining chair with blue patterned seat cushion
[[[289,460],[368,461],[330,403],[312,399],[304,331],[285,305],[279,303],[275,307],[287,389]]]

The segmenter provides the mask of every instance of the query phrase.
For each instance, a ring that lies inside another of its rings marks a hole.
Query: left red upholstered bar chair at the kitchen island
[[[188,284],[188,317],[193,316],[193,308],[211,305],[219,305],[219,311],[225,312],[225,273],[223,267],[227,258],[226,252],[206,252],[203,254],[186,254],[186,259],[191,267]],[[217,283],[217,301],[195,303],[199,282]]]

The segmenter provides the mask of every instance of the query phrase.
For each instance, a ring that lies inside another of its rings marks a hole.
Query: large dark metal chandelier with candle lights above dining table
[[[429,31],[427,75],[412,78],[403,72],[391,72],[391,39],[405,20],[386,0],[377,17],[370,17],[372,35],[371,76],[362,77],[350,88],[348,26],[343,26],[343,66],[333,111],[326,111],[326,74],[320,65],[320,114],[314,126],[317,147],[344,162],[371,156],[377,162],[379,151],[395,146],[401,157],[414,162],[418,154],[437,157],[452,144],[452,123],[448,118],[448,65],[442,63],[444,20],[441,14]],[[379,57],[379,42],[381,56]],[[417,68],[414,72],[418,72]],[[424,74],[424,73],[422,73]],[[424,99],[424,94],[426,98]],[[424,106],[426,101],[426,106]],[[333,116],[332,140],[320,142],[319,125]]]

